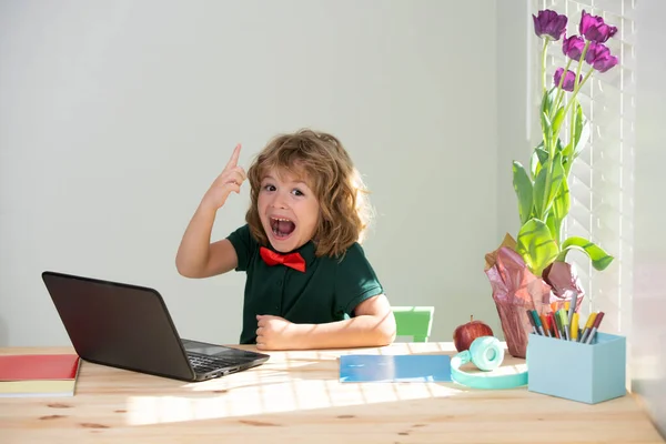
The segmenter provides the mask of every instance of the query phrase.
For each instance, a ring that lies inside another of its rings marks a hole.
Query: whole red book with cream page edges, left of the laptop
[[[0,397],[73,396],[77,354],[0,355]]]

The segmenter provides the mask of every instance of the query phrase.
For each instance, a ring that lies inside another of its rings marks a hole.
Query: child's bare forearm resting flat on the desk
[[[258,316],[260,350],[309,350],[383,346],[395,340],[395,317],[385,295],[361,302],[355,316],[325,324],[293,324],[279,316]]]

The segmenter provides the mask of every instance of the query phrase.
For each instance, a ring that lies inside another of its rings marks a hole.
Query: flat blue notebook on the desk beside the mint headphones
[[[446,354],[341,355],[340,382],[451,382],[451,356]]]

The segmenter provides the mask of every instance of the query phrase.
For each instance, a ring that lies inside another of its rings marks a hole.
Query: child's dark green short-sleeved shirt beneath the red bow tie
[[[246,224],[228,239],[239,258],[235,270],[248,274],[241,344],[256,342],[258,314],[282,316],[296,324],[342,321],[354,315],[359,303],[384,292],[359,243],[350,246],[341,261],[316,258],[314,243],[307,242],[296,250],[305,259],[305,272],[301,272],[282,264],[268,265]]]

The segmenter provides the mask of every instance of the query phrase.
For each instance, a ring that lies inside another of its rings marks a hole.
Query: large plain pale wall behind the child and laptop
[[[0,0],[0,345],[68,343],[47,269],[155,286],[183,336],[238,342],[244,275],[186,280],[175,251],[234,144],[248,167],[300,127],[365,174],[392,303],[435,305],[433,340],[467,313],[501,334],[495,26],[492,0]]]

